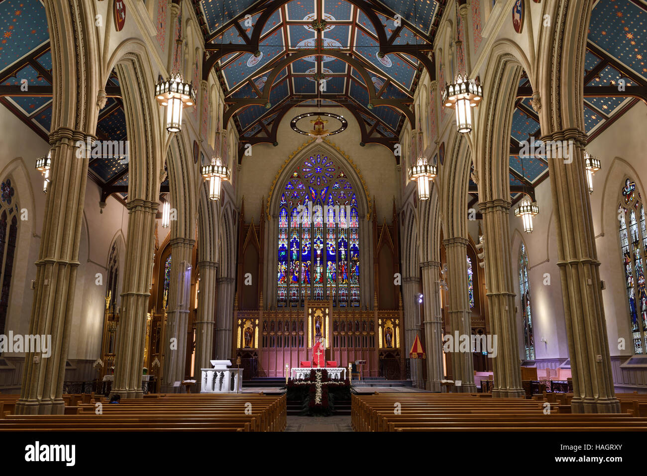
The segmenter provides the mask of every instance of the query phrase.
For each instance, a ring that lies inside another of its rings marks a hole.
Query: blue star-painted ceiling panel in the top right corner
[[[589,40],[647,79],[647,12],[631,0],[601,0],[593,8]]]

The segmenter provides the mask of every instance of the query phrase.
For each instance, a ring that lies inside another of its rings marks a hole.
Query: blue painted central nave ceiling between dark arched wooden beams
[[[376,92],[382,85],[384,90],[380,98],[410,101],[415,93],[419,76],[419,62],[405,54],[387,54],[378,58],[378,37],[374,25],[366,14],[346,0],[290,0],[272,12],[262,29],[259,50],[261,55],[254,57],[250,53],[234,53],[222,58],[217,72],[225,85],[226,94],[234,99],[256,98],[252,86],[265,84],[267,72],[258,74],[261,69],[278,63],[302,48],[315,46],[316,32],[311,26],[317,18],[318,1],[321,1],[320,16],[327,21],[323,30],[323,47],[335,49],[360,61],[369,72]],[[248,0],[203,0],[196,8],[197,14],[204,17],[205,38],[212,43],[232,43],[243,45],[256,26],[267,0],[252,3]],[[377,12],[389,41],[395,45],[429,44],[433,39],[432,25],[444,1],[425,0],[401,1],[384,0],[369,2]],[[235,15],[233,12],[237,12]],[[397,28],[393,18],[396,14],[402,17],[402,28]],[[245,16],[249,15],[247,20]],[[394,35],[395,34],[395,35]],[[318,91],[314,74],[320,70],[326,78],[325,91]],[[287,76],[285,81],[281,81]],[[313,105],[336,104],[332,96],[345,98],[344,105],[351,105],[356,111],[362,111],[360,117],[372,118],[379,127],[372,128],[375,136],[395,138],[404,124],[404,116],[388,106],[369,109],[367,85],[361,76],[344,60],[332,56],[310,56],[291,63],[285,72],[274,82],[270,98],[270,108],[248,106],[234,114],[234,120],[241,136],[267,137],[266,127],[257,127],[259,122],[272,116],[278,109],[288,103],[299,103],[295,95],[318,94],[318,99],[307,100],[300,105],[312,108]],[[261,87],[258,87],[262,92]],[[279,91],[280,89],[280,91]],[[327,99],[328,96],[328,99]],[[368,128],[373,124],[365,122]]]

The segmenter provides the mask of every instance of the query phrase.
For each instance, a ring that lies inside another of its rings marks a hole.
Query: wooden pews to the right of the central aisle
[[[647,430],[647,418],[633,413],[571,414],[566,399],[551,403],[547,414],[540,399],[487,394],[379,393],[352,398],[355,431]]]

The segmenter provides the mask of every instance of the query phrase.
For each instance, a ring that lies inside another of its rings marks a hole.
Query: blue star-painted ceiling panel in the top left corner
[[[3,70],[49,43],[45,7],[38,0],[0,2],[0,32],[0,70]]]

